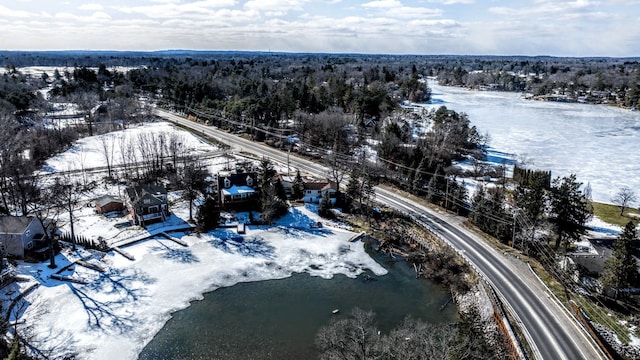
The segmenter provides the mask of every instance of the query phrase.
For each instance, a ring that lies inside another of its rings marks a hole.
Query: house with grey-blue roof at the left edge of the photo
[[[3,254],[24,258],[30,251],[47,246],[44,228],[30,216],[0,216],[0,250]]]

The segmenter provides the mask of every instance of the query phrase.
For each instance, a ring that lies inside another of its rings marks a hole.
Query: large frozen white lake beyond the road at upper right
[[[432,105],[469,115],[491,148],[552,176],[575,173],[593,200],[611,202],[622,186],[640,193],[640,112],[606,105],[525,100],[522,94],[429,83]]]

